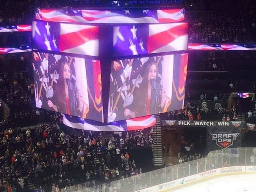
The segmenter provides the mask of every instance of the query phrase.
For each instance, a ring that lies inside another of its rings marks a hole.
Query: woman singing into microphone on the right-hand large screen
[[[136,102],[133,109],[125,109],[124,116],[140,117],[159,113],[165,103],[165,89],[156,82],[158,68],[156,63],[150,63],[143,76],[142,83],[136,90]],[[161,102],[161,103],[160,103]],[[135,109],[135,110],[134,110]]]

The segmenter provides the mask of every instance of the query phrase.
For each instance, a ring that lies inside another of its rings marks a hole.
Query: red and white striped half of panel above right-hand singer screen
[[[148,53],[160,53],[188,48],[188,23],[149,25]]]

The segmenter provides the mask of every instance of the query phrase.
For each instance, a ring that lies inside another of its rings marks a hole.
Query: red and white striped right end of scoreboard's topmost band
[[[184,8],[157,10],[157,16],[159,23],[180,22],[185,20]]]

